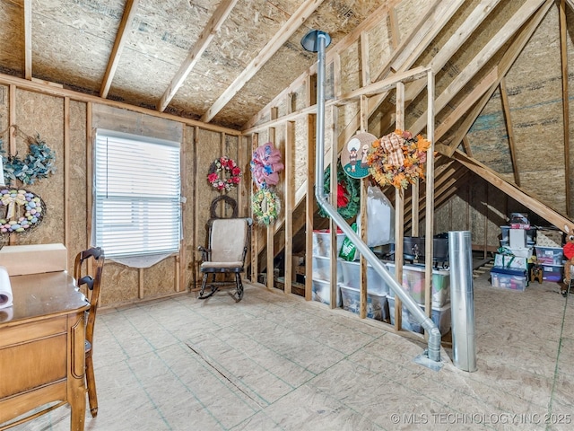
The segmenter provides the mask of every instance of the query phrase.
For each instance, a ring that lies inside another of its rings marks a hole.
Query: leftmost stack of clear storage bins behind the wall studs
[[[344,233],[337,232],[337,255],[341,251]],[[337,282],[343,280],[343,272],[337,260]],[[331,303],[331,233],[328,229],[313,231],[313,300]],[[337,286],[337,306],[341,306],[341,293]]]

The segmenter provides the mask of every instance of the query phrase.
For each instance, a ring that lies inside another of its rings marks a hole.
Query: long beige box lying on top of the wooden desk
[[[8,245],[0,250],[0,266],[10,276],[67,270],[64,244]]]

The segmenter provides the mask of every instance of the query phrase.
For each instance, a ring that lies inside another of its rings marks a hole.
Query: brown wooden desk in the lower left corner
[[[26,413],[37,417],[69,403],[70,429],[82,431],[89,303],[65,271],[10,277],[10,283],[13,307],[0,310],[0,430]]]

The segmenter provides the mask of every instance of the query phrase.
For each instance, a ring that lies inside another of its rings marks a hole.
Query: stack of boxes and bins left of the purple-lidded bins
[[[535,229],[525,213],[510,214],[509,226],[500,226],[500,250],[494,256],[491,285],[524,292],[528,286],[528,266],[535,244]]]

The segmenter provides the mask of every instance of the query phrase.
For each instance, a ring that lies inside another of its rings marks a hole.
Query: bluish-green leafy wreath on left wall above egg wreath
[[[0,139],[0,154],[4,165],[4,180],[21,180],[23,184],[33,184],[36,180],[48,178],[56,172],[56,153],[39,134],[28,136],[17,126],[13,126],[22,136],[27,138],[30,147],[22,158],[18,154],[4,155],[6,152]]]

